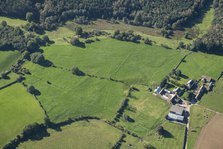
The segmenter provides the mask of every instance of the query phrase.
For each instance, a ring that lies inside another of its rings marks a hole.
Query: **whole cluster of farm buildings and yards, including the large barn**
[[[198,101],[204,95],[204,93],[209,92],[214,87],[215,80],[208,76],[202,76],[199,81],[189,80],[184,89],[179,87],[174,88],[172,91],[161,88],[158,86],[154,90],[154,95],[169,102],[172,106],[170,108],[167,119],[170,121],[177,121],[181,123],[187,123],[187,117],[189,115],[186,102],[180,97],[184,92],[191,91],[193,96],[189,97],[189,101]]]

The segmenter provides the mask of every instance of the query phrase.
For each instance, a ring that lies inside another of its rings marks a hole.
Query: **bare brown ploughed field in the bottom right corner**
[[[196,149],[223,149],[223,116],[216,114],[202,129]]]

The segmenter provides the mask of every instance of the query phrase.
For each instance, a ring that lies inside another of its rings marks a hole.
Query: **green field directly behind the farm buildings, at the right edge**
[[[217,79],[223,66],[222,56],[195,52],[186,58],[186,62],[182,63],[179,69],[183,74],[192,79],[200,79],[202,75],[207,75]]]

